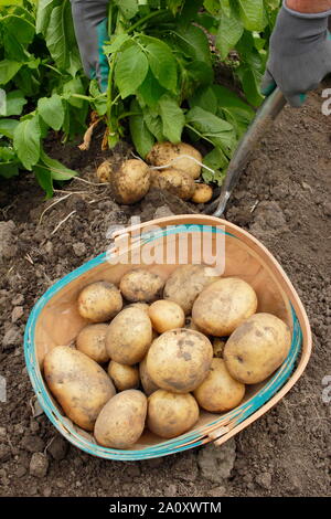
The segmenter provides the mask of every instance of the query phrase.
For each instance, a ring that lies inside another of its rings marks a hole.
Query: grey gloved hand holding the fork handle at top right
[[[286,7],[278,14],[270,39],[270,56],[261,84],[269,95],[279,86],[288,103],[299,107],[306,93],[318,87],[331,72],[331,11],[303,14]]]

